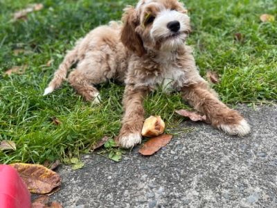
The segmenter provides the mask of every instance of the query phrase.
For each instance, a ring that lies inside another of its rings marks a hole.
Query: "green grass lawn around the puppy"
[[[120,19],[121,11],[135,1],[44,0],[44,9],[28,15],[28,21],[12,22],[12,13],[35,1],[0,1],[0,140],[12,140],[15,151],[0,152],[1,163],[44,162],[78,156],[104,135],[114,137],[123,113],[123,86],[100,86],[99,106],[82,101],[67,83],[42,97],[66,50],[91,28]],[[221,83],[213,87],[223,101],[277,100],[277,21],[261,23],[260,15],[276,15],[276,0],[185,1],[192,19],[188,43],[202,75],[217,71]],[[277,18],[277,17],[275,17]],[[241,41],[234,34],[241,33]],[[15,49],[28,54],[15,55]],[[50,67],[48,60],[53,60]],[[27,64],[26,72],[5,76],[12,66]],[[181,118],[175,109],[187,107],[179,94],[151,94],[146,115],[160,114],[169,126]],[[56,116],[61,125],[53,125]]]

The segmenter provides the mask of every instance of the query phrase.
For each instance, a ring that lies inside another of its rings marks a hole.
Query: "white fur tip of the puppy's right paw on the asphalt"
[[[250,132],[250,126],[245,121],[245,119],[242,119],[240,123],[238,124],[232,124],[232,125],[227,125],[227,124],[221,124],[217,125],[217,128],[220,128],[224,130],[224,132],[228,133],[229,135],[238,135],[240,137],[249,134]]]

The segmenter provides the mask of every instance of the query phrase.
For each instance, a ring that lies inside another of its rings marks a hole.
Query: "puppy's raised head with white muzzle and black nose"
[[[121,41],[131,51],[143,55],[148,50],[175,51],[184,45],[190,19],[177,0],[141,0],[123,15]]]

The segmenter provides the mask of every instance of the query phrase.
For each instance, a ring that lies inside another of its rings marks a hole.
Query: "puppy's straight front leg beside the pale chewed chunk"
[[[123,96],[123,125],[119,133],[119,144],[123,148],[132,148],[141,143],[143,128],[143,98],[147,89],[134,89],[131,85],[125,87]]]

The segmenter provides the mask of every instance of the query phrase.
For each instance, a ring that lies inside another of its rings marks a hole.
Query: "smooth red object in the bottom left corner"
[[[30,208],[30,192],[12,166],[0,165],[0,207]]]

